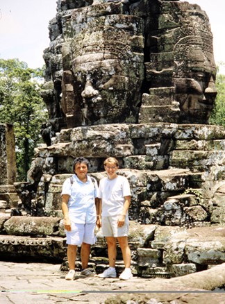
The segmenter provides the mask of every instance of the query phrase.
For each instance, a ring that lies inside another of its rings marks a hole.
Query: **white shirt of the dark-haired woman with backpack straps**
[[[73,183],[67,178],[61,193],[69,195],[69,219],[74,223],[95,223],[97,217],[94,198],[98,197],[99,192],[97,181],[93,184],[92,178],[88,176],[87,182],[83,183],[76,174],[72,177]]]

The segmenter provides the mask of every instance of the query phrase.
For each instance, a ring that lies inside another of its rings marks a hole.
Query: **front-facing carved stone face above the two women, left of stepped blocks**
[[[135,93],[140,90],[140,78],[129,77],[122,60],[81,61],[78,64],[75,60],[73,71],[78,93],[75,103],[82,97],[82,124],[106,124],[127,118],[134,122],[139,101]]]

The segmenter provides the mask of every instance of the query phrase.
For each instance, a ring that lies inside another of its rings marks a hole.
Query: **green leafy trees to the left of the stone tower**
[[[17,59],[0,59],[0,122],[13,124],[18,180],[26,180],[47,110],[40,97],[43,70],[30,69]]]

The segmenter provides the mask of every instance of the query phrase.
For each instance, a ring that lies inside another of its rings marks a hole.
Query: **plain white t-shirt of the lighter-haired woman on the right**
[[[102,178],[99,183],[99,198],[102,199],[102,216],[113,217],[122,213],[124,196],[130,196],[131,189],[125,176],[117,176],[110,180]]]

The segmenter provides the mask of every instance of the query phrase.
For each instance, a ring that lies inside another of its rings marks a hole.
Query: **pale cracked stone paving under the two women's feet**
[[[144,283],[142,278],[122,281],[118,278],[82,278],[65,280],[60,264],[0,262],[0,303],[104,303],[114,290],[127,290],[132,282]],[[132,284],[133,285],[133,284]]]

